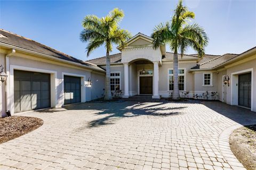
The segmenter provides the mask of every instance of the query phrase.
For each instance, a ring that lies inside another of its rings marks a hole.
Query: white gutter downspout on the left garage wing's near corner
[[[11,91],[10,91],[10,63],[9,63],[9,57],[13,56],[14,54],[16,53],[16,50],[15,49],[12,49],[11,53],[8,53],[6,56],[5,56],[5,71],[6,71],[6,74],[7,74],[7,79],[5,81],[5,97],[6,97],[6,112],[7,111],[11,111],[11,103],[10,103],[10,94],[11,94]],[[11,113],[13,114],[13,113]]]

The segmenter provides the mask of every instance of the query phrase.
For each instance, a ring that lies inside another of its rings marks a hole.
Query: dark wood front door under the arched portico
[[[152,95],[153,94],[153,77],[140,77],[140,94]]]

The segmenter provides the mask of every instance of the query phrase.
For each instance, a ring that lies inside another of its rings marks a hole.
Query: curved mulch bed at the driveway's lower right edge
[[[256,170],[256,124],[236,129],[230,135],[229,144],[246,169]]]

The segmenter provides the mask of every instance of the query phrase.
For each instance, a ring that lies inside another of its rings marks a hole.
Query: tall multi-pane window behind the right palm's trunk
[[[169,91],[173,90],[173,69],[168,70],[169,74]],[[179,69],[178,71],[178,83],[179,90],[185,90],[185,69]]]

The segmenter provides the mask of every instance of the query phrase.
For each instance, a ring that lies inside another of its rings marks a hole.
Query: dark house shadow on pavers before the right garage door
[[[239,106],[231,106],[221,101],[202,101],[206,107],[241,125],[256,124],[256,112]]]

